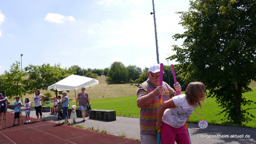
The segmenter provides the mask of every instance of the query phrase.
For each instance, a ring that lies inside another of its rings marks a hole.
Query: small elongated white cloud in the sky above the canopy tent
[[[45,20],[55,23],[62,23],[66,20],[75,21],[76,19],[73,16],[63,16],[57,13],[48,13],[45,17]]]

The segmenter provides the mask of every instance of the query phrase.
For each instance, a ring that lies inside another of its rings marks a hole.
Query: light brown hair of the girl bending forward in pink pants
[[[202,108],[201,102],[198,99],[198,95],[203,94],[203,99],[202,101],[204,102],[206,97],[205,97],[205,86],[201,82],[191,82],[188,84],[186,88],[186,98],[188,98],[189,102],[191,105],[194,107],[197,107],[198,105],[200,108]]]

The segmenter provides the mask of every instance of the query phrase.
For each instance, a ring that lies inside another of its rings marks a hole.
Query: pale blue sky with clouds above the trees
[[[183,33],[177,11],[187,11],[188,0],[154,1],[159,61],[167,65],[172,36]],[[157,62],[151,0],[1,0],[0,74],[21,60],[23,68],[60,63],[62,68],[148,67]],[[175,64],[174,61],[169,61]]]

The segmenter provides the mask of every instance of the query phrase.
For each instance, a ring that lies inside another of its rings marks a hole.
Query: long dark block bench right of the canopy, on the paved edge
[[[116,111],[92,109],[89,110],[89,118],[105,121],[116,121]]]

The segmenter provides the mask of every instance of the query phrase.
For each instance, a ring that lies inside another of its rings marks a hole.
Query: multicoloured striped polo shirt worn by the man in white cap
[[[175,94],[173,88],[167,83],[163,82],[164,93],[162,95],[162,102],[165,102],[172,98]],[[137,99],[144,95],[154,91],[156,87],[147,79],[145,82],[140,84],[137,89]],[[140,109],[140,132],[142,134],[157,134],[156,122],[157,122],[157,111],[158,111],[158,100],[159,96],[155,97],[147,106]]]

